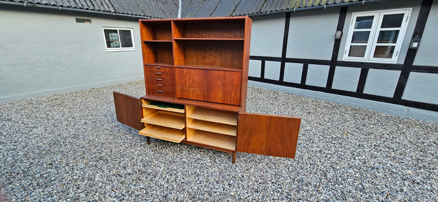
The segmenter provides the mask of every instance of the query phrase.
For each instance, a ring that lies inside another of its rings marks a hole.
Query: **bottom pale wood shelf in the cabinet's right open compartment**
[[[221,135],[217,133],[195,130],[193,134],[187,136],[187,141],[231,151],[236,150],[236,136],[231,135]]]

